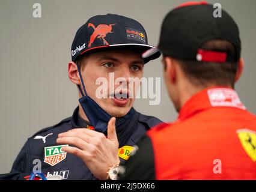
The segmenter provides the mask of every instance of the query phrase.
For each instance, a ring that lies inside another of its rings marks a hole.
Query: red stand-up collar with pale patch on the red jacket
[[[234,89],[224,86],[215,86],[206,88],[190,97],[183,107],[181,107],[178,121],[212,107],[235,107],[246,110]]]

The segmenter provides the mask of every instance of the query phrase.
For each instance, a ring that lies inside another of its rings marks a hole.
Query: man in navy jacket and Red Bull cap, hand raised
[[[2,178],[27,179],[37,167],[46,176],[62,179],[107,179],[97,171],[108,172],[113,162],[126,161],[133,145],[161,122],[133,109],[135,93],[128,86],[131,77],[143,76],[145,63],[160,56],[156,52],[142,58],[152,47],[136,20],[115,14],[91,17],[76,32],[69,63],[69,79],[79,88],[79,106],[72,117],[30,137],[11,174]],[[102,77],[109,82],[111,73],[114,89],[107,84],[107,92],[99,97],[97,80]],[[108,122],[116,129],[108,129]]]

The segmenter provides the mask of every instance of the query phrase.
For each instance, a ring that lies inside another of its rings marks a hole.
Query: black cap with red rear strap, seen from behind
[[[222,9],[221,17],[214,17],[212,4],[188,2],[171,10],[162,23],[158,49],[173,58],[208,62],[238,61],[241,44],[239,29],[232,17]],[[230,53],[202,50],[209,40],[227,40],[236,49]],[[147,58],[156,50],[144,53]]]

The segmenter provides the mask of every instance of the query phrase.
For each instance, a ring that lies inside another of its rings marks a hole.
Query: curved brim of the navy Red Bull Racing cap
[[[151,49],[156,49],[150,56],[144,56]],[[93,47],[91,49],[87,49],[84,52],[80,53],[80,55],[84,55],[87,53],[95,53],[99,51],[105,50],[136,50],[142,53],[142,58],[144,59],[144,63],[146,64],[148,61],[154,60],[159,58],[161,55],[160,50],[158,50],[154,46],[150,46],[148,44],[139,44],[139,43],[124,43],[124,44],[111,44],[108,46],[100,46],[100,47]]]

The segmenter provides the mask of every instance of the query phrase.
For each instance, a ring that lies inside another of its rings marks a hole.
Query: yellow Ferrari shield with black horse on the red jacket
[[[240,142],[245,149],[246,154],[252,159],[252,161],[256,161],[256,132],[248,129],[242,129],[236,131]]]

